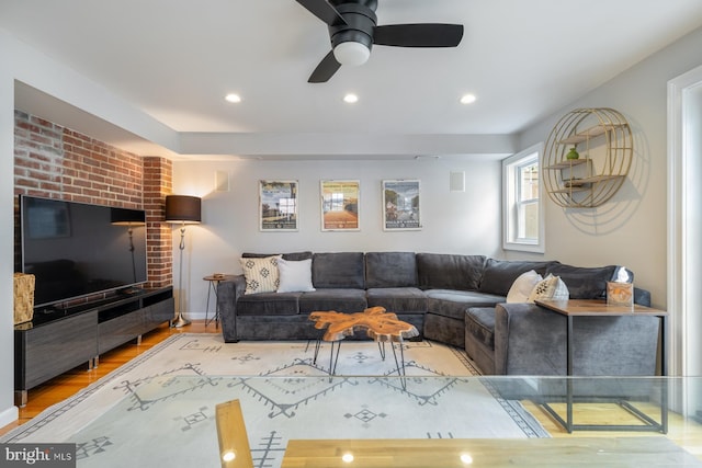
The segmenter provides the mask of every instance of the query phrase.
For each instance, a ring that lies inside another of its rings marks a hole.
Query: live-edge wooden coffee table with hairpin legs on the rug
[[[400,343],[400,358],[397,358],[397,352],[394,345],[392,345],[393,356],[395,357],[397,374],[405,376],[405,350],[401,343],[406,338],[419,335],[414,324],[399,320],[397,315],[387,312],[383,307],[370,307],[362,312],[354,313],[342,313],[335,310],[317,311],[309,315],[309,320],[315,322],[316,329],[327,329],[321,339],[317,340],[314,361],[315,363],[317,362],[321,341],[331,343],[329,375],[335,375],[337,370],[339,351],[341,350],[343,339],[352,336],[356,330],[365,330],[367,336],[377,343],[383,361],[385,361],[385,343]],[[337,349],[336,358],[335,344]]]

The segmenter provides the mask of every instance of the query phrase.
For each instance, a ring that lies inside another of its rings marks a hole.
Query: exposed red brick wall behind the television
[[[172,191],[171,162],[141,158],[20,111],[14,113],[14,123],[15,195],[145,209],[147,286],[171,284],[171,232],[161,222],[163,199]],[[15,270],[19,261],[18,253]]]

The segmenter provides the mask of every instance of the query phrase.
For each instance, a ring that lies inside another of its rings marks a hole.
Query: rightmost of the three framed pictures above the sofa
[[[421,229],[418,180],[383,181],[383,230]]]

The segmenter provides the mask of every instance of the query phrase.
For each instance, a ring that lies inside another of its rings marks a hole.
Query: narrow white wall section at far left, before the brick
[[[14,407],[14,336],[12,272],[14,265],[14,79],[10,64],[14,61],[12,45],[0,31],[0,427],[16,420]]]

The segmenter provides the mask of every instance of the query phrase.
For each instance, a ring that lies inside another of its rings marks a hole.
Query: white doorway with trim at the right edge
[[[668,82],[668,311],[673,376],[702,376],[702,67]],[[683,411],[702,410],[686,388]]]

